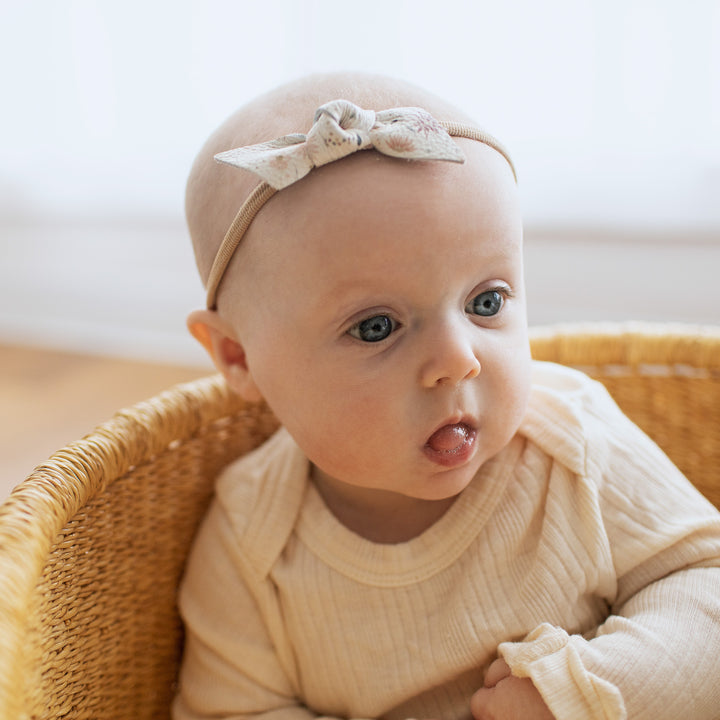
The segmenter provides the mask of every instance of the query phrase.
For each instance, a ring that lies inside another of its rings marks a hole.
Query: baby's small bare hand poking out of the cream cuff
[[[553,720],[532,680],[511,675],[504,660],[488,668],[484,685],[470,700],[475,720]]]

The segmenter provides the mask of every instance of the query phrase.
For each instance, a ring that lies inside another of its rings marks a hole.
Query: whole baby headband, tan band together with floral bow
[[[393,108],[376,113],[347,100],[334,100],[320,106],[307,135],[285,135],[215,155],[218,162],[249,170],[263,182],[243,203],[215,256],[207,282],[208,308],[215,309],[220,283],[250,223],[278,190],[302,179],[315,167],[371,148],[383,155],[407,160],[463,163],[465,156],[451,135],[477,140],[497,150],[515,176],[510,156],[502,145],[477,128],[439,122],[420,108]]]

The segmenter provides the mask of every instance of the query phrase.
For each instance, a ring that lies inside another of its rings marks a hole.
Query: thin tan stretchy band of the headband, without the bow
[[[477,140],[478,142],[488,145],[499,152],[505,160],[507,160],[512,170],[513,177],[517,182],[517,174],[515,172],[515,166],[513,165],[510,155],[505,150],[503,145],[498,142],[492,135],[489,135],[482,130],[475,128],[471,125],[464,125],[462,123],[445,122],[439,121],[440,125],[445,128],[449,135],[453,137],[462,137],[469,140]],[[207,307],[209,310],[215,310],[217,306],[217,294],[220,288],[220,283],[225,275],[225,272],[232,260],[235,251],[237,250],[243,236],[250,227],[250,223],[253,221],[255,216],[260,212],[260,209],[265,203],[278,192],[273,187],[268,185],[266,182],[260,183],[248,196],[247,200],[242,204],[238,211],[235,219],[232,221],[228,231],[225,233],[220,248],[218,249],[215,260],[213,261],[210,269],[210,274],[207,281]]]

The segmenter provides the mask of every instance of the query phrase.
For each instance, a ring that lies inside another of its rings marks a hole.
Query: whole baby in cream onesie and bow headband
[[[497,141],[311,77],[212,135],[187,215],[191,332],[282,427],[195,541],[176,720],[720,718],[720,513],[530,359]]]

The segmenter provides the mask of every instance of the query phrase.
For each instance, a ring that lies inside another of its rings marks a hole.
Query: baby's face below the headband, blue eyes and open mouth
[[[505,161],[360,153],[281,191],[246,237],[252,378],[325,482],[459,493],[511,439],[529,388],[522,230]],[[228,312],[229,311],[229,312]]]

